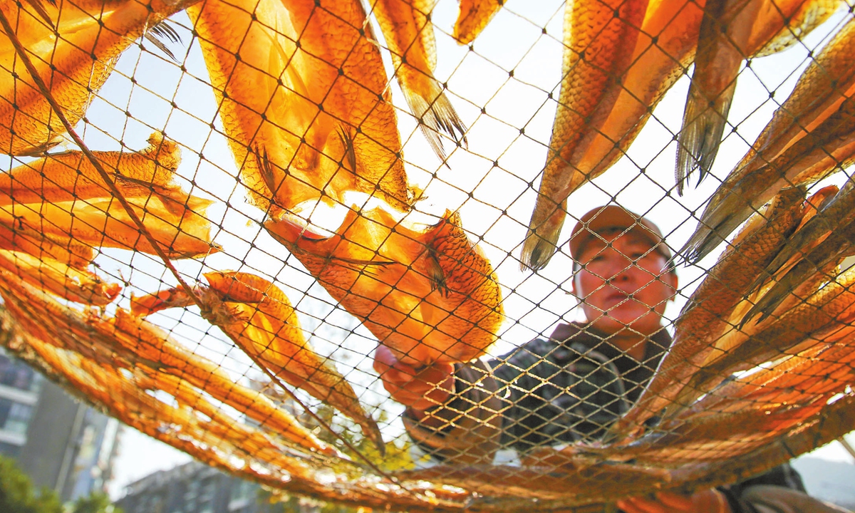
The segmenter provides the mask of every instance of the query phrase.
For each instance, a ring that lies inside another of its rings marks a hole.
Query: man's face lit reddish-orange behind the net
[[[649,335],[662,327],[662,315],[674,296],[677,278],[662,274],[663,255],[651,251],[652,242],[637,231],[600,233],[578,256],[575,293],[587,320],[604,333],[624,327]]]

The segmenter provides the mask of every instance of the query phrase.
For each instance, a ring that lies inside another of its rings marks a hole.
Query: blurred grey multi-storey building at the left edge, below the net
[[[120,424],[0,348],[0,454],[63,501],[107,492]]]

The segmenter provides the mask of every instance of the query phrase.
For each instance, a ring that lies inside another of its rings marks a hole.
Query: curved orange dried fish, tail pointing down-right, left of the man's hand
[[[329,359],[320,357],[304,337],[297,312],[279,287],[248,273],[204,274],[209,286],[197,286],[202,315],[220,327],[238,347],[274,374],[350,416],[380,453],[380,428],[363,409],[356,392]],[[148,315],[193,303],[182,289],[133,298],[132,313]]]

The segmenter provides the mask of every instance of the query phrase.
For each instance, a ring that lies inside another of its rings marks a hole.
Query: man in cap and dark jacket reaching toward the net
[[[639,398],[671,342],[663,313],[678,282],[662,233],[639,215],[607,205],[581,217],[569,250],[573,291],[587,322],[560,324],[549,339],[457,368],[416,370],[383,346],[377,350],[374,369],[392,398],[407,406],[410,436],[433,457],[490,463],[499,447],[524,455],[538,445],[598,439]],[[769,488],[772,495],[786,495],[787,488],[804,492],[799,475],[785,465],[738,486],[617,504],[626,513],[787,511],[763,510],[766,499],[746,492]]]

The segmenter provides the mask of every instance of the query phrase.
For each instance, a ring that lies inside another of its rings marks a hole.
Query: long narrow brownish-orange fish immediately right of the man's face
[[[799,225],[804,198],[803,188],[781,192],[764,215],[736,237],[738,245],[722,254],[675,321],[674,342],[653,380],[613,432],[638,427],[673,407],[674,398],[715,349],[716,339],[730,327],[728,315],[751,292],[747,287]]]

